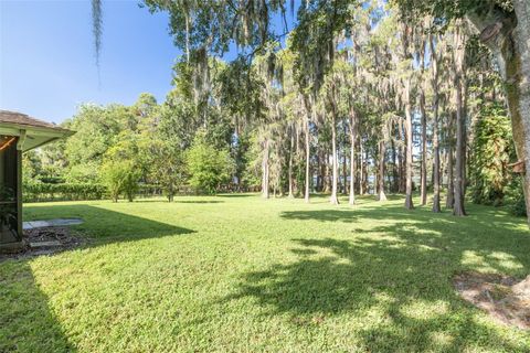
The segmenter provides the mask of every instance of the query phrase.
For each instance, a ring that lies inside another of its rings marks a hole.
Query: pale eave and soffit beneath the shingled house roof
[[[0,121],[0,135],[17,136],[19,138],[17,149],[24,152],[74,133],[74,131],[62,128],[34,127]]]

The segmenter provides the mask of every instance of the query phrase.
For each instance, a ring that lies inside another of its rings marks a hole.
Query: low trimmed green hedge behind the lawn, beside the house
[[[102,200],[107,194],[107,189],[95,183],[51,184],[29,181],[24,182],[22,194],[24,202]]]

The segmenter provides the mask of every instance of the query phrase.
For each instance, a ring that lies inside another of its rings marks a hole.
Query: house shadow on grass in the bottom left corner
[[[28,261],[0,266],[0,352],[75,352]],[[46,328],[36,330],[35,328]]]

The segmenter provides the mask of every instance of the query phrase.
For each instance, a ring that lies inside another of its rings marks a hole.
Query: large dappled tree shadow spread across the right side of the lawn
[[[344,313],[368,318],[352,334],[373,352],[528,352],[528,341],[515,343],[481,322],[478,309],[453,289],[454,274],[466,268],[519,276],[530,270],[529,234],[506,227],[521,223],[504,217],[492,224],[488,211],[475,211],[468,218],[396,205],[284,212],[287,220],[373,222],[351,238],[292,239],[294,263],[244,274],[222,301],[253,298],[265,317],[287,314],[308,330]]]

